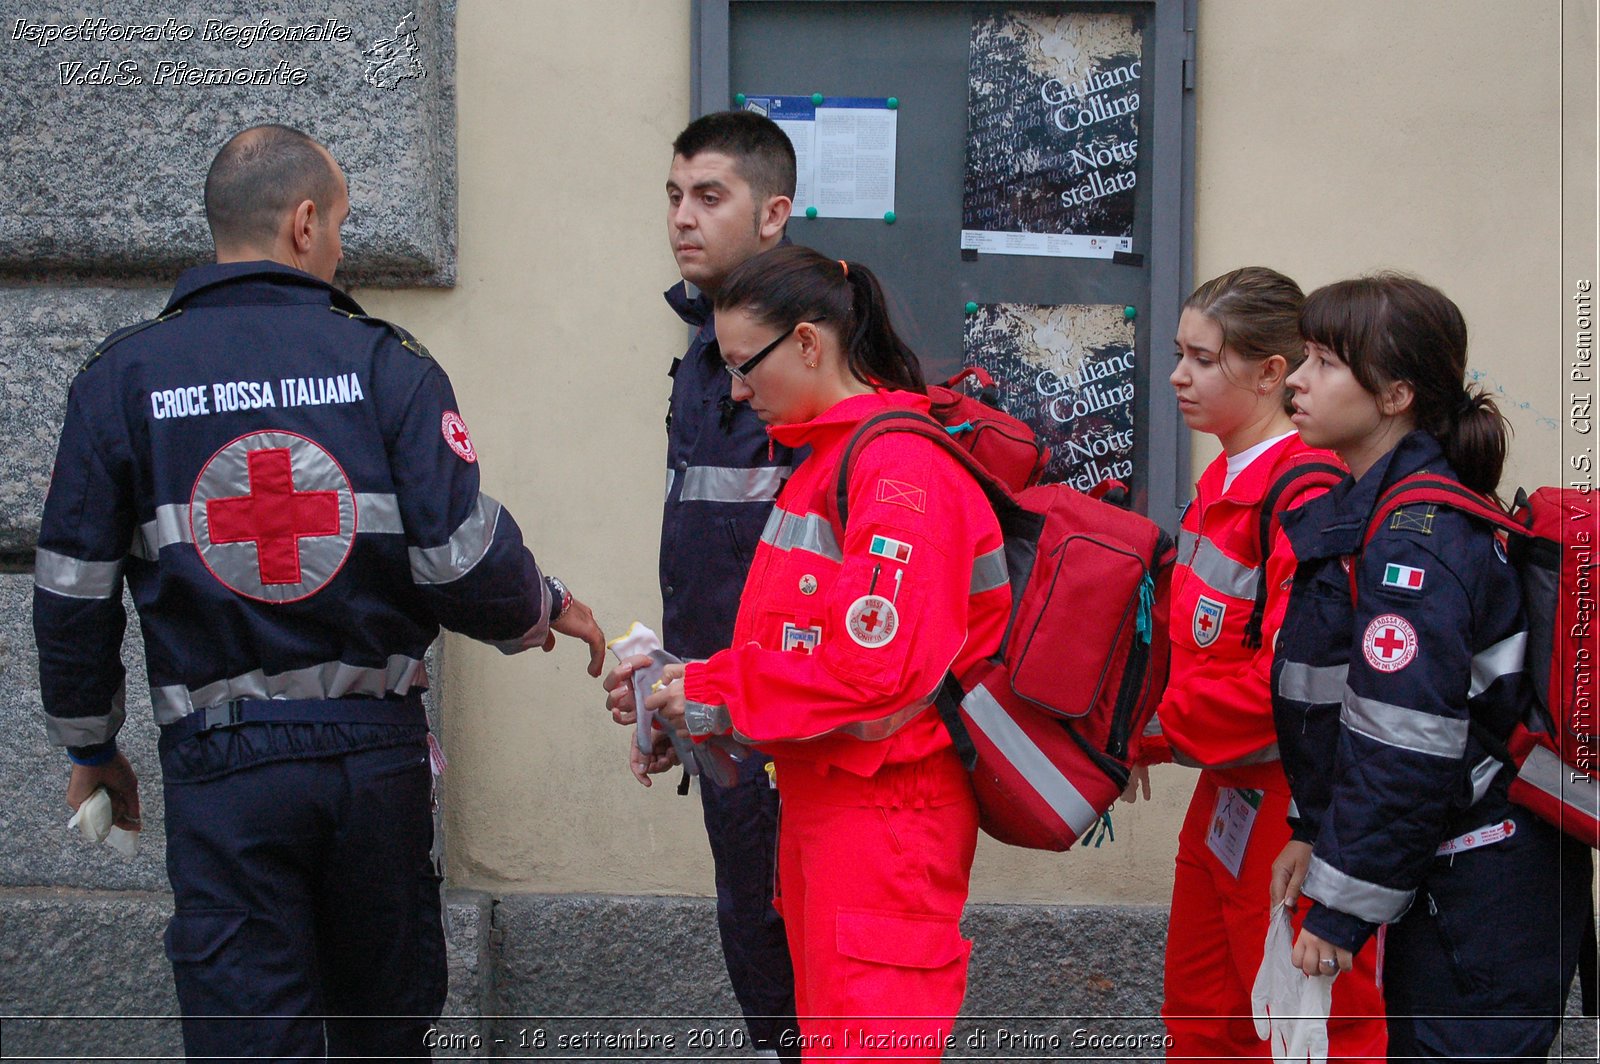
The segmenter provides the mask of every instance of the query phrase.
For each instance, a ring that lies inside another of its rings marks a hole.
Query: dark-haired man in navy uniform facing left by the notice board
[[[747,259],[776,248],[795,194],[794,146],[778,123],[750,110],[691,122],[672,142],[667,240],[683,280],[667,302],[693,330],[672,360],[667,406],[667,501],[661,520],[662,643],[683,659],[728,646],[739,592],[795,454],[766,437],[749,403],[734,403],[717,350],[710,299]],[[686,285],[698,293],[690,296]],[[619,723],[634,722],[630,674],[606,677]],[[637,760],[637,758],[635,758]],[[749,757],[739,781],[701,776],[706,835],[717,875],[717,926],[734,997],[754,1048],[798,1058],[794,971],[773,909],[778,792],[770,758]],[[650,770],[662,768],[658,760]],[[645,768],[635,765],[643,781]]]

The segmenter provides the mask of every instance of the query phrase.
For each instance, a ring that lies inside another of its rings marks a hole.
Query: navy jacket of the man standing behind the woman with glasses
[[[666,298],[698,331],[670,370],[661,642],[678,658],[710,658],[733,638],[762,526],[798,459],[768,440],[749,403],[733,402],[710,301],[690,299],[682,282]]]

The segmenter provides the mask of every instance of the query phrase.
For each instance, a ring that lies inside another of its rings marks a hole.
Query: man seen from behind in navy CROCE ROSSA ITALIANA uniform
[[[304,133],[211,163],[216,264],[72,382],[34,627],[67,802],[139,827],[117,752],[126,581],[162,725],[190,1056],[427,1056],[445,1002],[422,656],[605,637],[478,491],[450,379],[333,286],[349,194]]]

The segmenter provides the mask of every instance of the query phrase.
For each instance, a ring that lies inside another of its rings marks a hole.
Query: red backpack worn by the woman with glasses
[[[853,456],[886,432],[938,442],[982,485],[1005,536],[1011,618],[994,658],[946,677],[939,717],[973,773],[982,829],[1014,846],[1067,850],[1126,787],[1166,686],[1178,550],[1155,522],[1066,485],[1006,483],[1021,464],[990,469],[997,459],[968,450],[963,424],[904,410],[869,418],[840,459],[837,520],[843,530]]]

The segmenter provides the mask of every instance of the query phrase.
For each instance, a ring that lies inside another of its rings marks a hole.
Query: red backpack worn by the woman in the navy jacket
[[[1462,510],[1507,533],[1528,614],[1523,670],[1538,704],[1504,746],[1474,734],[1517,773],[1512,802],[1600,848],[1594,630],[1600,496],[1573,488],[1539,488],[1531,498],[1518,491],[1506,514],[1448,477],[1414,474],[1378,501],[1363,546],[1390,514],[1419,502]]]

